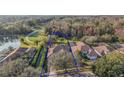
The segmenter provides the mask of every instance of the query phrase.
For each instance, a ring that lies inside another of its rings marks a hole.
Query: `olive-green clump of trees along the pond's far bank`
[[[31,31],[31,27],[25,22],[0,24],[0,35],[27,34]]]

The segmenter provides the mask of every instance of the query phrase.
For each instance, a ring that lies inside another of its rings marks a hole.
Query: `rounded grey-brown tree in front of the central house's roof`
[[[52,54],[48,58],[48,68],[54,68],[55,70],[64,69],[66,71],[67,68],[72,67],[72,56],[71,54],[65,51],[59,51]]]

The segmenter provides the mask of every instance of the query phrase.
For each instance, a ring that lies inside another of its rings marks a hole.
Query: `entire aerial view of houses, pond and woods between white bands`
[[[124,16],[1,19],[0,76],[124,76]]]

